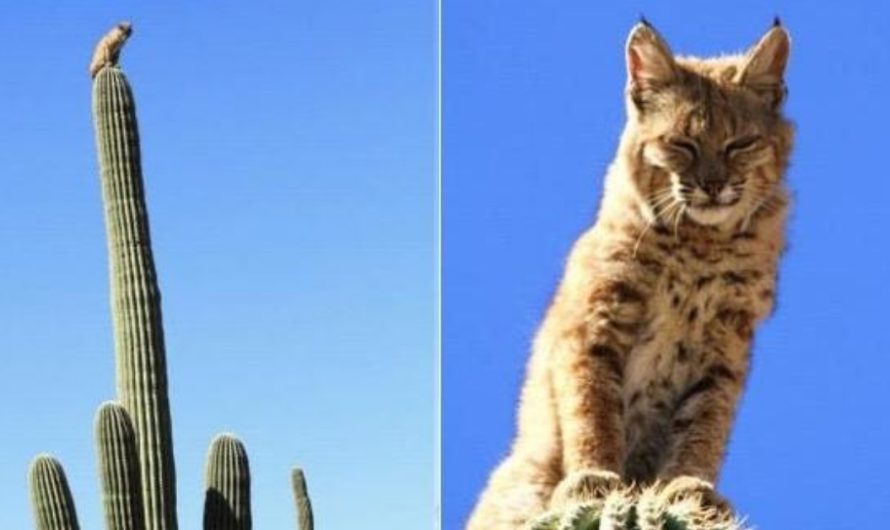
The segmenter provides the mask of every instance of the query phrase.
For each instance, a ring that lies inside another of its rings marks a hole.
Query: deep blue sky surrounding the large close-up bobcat
[[[759,528],[874,527],[890,517],[886,3],[449,0],[444,528],[508,448],[529,342],[624,123],[640,13],[683,53],[746,48],[776,14],[792,35],[791,248],[721,488]]]

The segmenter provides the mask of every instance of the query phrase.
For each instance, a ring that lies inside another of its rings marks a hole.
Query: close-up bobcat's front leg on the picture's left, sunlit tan
[[[630,281],[598,282],[585,312],[566,319],[575,325],[554,338],[551,377],[565,478],[551,506],[604,497],[621,484],[624,365],[643,323],[645,300],[642,288]]]

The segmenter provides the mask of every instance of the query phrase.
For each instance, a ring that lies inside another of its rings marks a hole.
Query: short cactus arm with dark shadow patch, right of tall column
[[[241,440],[214,438],[204,481],[204,530],[250,530],[250,466]]]

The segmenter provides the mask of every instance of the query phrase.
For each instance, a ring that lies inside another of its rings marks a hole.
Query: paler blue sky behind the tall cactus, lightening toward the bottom
[[[247,446],[257,528],[434,517],[432,1],[17,2],[0,19],[0,526],[64,462],[101,527],[93,415],[114,397],[86,73],[113,23],[133,84],[164,296],[181,528],[204,457]]]

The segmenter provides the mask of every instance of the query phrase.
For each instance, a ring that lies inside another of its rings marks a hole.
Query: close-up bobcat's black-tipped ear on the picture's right
[[[785,67],[791,52],[791,38],[778,19],[745,55],[736,82],[759,93],[774,108],[785,99]]]

